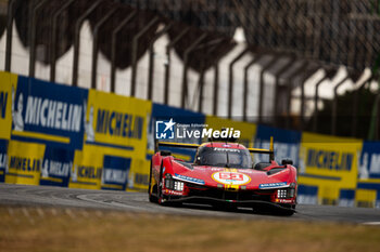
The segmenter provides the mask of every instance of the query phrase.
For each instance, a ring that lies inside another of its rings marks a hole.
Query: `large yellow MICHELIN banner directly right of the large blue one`
[[[151,103],[90,90],[86,105],[85,144],[134,151],[144,158]]]

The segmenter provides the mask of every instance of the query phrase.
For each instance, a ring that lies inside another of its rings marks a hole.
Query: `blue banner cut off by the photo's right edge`
[[[358,177],[359,180],[380,178],[380,142],[364,142]]]

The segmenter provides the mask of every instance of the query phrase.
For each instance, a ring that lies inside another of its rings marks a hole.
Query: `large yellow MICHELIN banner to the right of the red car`
[[[318,202],[338,204],[341,189],[355,189],[363,142],[303,133],[299,183],[318,186]]]

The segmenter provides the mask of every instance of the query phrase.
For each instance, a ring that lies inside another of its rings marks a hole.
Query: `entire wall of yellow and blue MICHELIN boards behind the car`
[[[379,142],[256,127],[10,72],[0,71],[0,182],[144,190],[156,130],[168,125],[169,141],[202,142],[176,137],[179,123],[233,128],[249,147],[268,148],[274,136],[276,160],[290,158],[299,169],[299,202],[380,208]],[[195,154],[167,149],[187,161]]]

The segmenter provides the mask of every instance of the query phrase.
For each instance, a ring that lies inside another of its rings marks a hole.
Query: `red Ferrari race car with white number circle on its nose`
[[[296,204],[296,169],[291,160],[278,164],[269,149],[237,143],[202,145],[160,142],[161,146],[197,148],[193,163],[161,150],[152,157],[149,199],[160,204],[206,203],[253,208],[254,212],[291,215]],[[250,152],[268,154],[268,162],[253,164]]]

